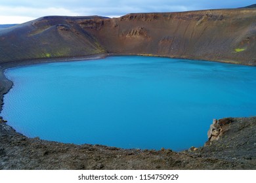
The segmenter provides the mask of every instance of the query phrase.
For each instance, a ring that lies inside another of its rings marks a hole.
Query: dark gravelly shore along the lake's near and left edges
[[[106,56],[97,54],[73,60]],[[12,86],[3,74],[5,69],[49,61],[38,59],[1,64],[1,105],[3,94]],[[213,120],[207,135],[209,141],[205,146],[182,152],[121,149],[28,138],[0,118],[0,169],[256,169],[256,117]]]

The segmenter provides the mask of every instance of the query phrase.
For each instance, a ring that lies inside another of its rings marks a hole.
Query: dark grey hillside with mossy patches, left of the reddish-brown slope
[[[106,52],[79,22],[98,16],[49,16],[0,31],[0,63],[40,58],[70,58]]]

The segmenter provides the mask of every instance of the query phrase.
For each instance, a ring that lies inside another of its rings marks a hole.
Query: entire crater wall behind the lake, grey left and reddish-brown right
[[[144,54],[256,65],[256,10],[39,18],[0,31],[0,61]]]

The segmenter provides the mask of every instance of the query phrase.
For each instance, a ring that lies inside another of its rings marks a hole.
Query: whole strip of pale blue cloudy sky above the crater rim
[[[20,24],[41,16],[100,15],[130,12],[175,12],[252,5],[255,0],[0,0],[0,24]]]

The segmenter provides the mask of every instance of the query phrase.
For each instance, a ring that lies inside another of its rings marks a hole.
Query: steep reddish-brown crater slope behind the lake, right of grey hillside
[[[108,52],[255,65],[255,17],[248,9],[128,14],[87,31]]]

